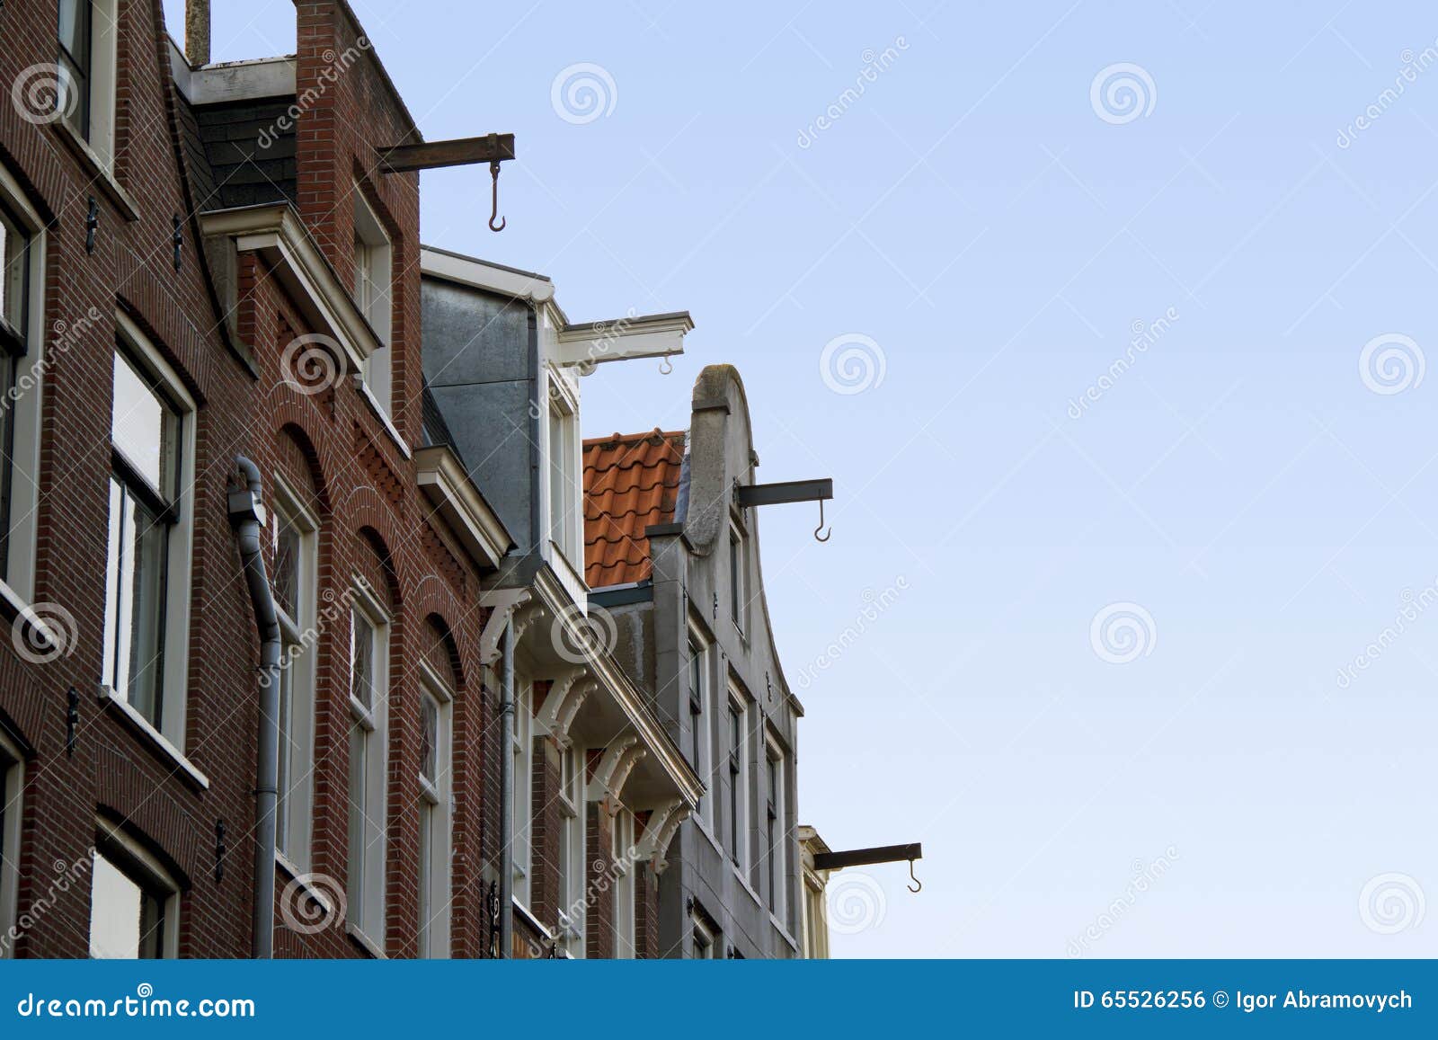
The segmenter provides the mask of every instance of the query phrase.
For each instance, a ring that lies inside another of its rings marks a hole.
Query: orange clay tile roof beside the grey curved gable
[[[673,524],[686,434],[649,433],[584,442],[584,577],[590,588],[647,581],[654,524]]]

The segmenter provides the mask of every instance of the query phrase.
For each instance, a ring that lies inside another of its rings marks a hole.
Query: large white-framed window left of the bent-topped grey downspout
[[[183,749],[196,404],[118,318],[101,682]]]

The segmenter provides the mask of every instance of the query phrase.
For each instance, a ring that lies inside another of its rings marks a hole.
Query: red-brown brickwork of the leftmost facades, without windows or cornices
[[[183,161],[177,88],[160,0],[118,4],[114,181],[82,160],[53,122],[0,106],[0,164],[26,188],[46,222],[46,329],[92,314],[98,321],[53,358],[43,384],[39,537],[32,601],[63,606],[76,639],[45,665],[0,649],[0,724],[24,748],[19,908],[45,896],[52,865],[88,859],[96,814],[124,830],[180,883],[184,957],[249,957],[257,731],[259,642],[227,519],[234,457],[259,463],[266,492],[282,475],[319,518],[319,596],[332,601],[354,574],[381,591],[391,614],[388,676],[388,791],[384,952],[416,952],[420,770],[418,676],[414,662],[441,660],[456,692],[453,709],[452,952],[486,954],[490,934],[485,866],[498,831],[492,705],[479,644],[485,611],[479,571],[417,492],[410,449],[420,443],[418,178],[381,175],[377,145],[407,141],[413,124],[341,3],[298,4],[298,91],[316,88],[298,122],[298,188],[303,223],[339,280],[352,278],[352,200],[358,183],[393,240],[394,427],[348,380],[305,394],[280,368],[285,347],[315,331],[305,302],[288,293],[257,255],[237,268],[234,337],[226,335],[219,295],[197,246],[197,199]],[[53,63],[53,1],[6,4],[0,81],[9,86],[33,65]],[[319,91],[336,52],[362,58]],[[88,199],[99,203],[93,255],[85,250]],[[122,204],[134,203],[134,213]],[[184,245],[175,270],[173,217]],[[134,219],[131,219],[134,217]],[[203,790],[157,744],[96,701],[104,630],[104,560],[111,472],[109,414],[115,314],[128,315],[161,351],[197,403],[193,488],[193,581],[187,633],[184,755],[209,778]],[[10,614],[13,616],[13,608]],[[7,621],[10,617],[6,619]],[[316,654],[313,840],[311,869],[342,892],[347,872],[349,726],[348,617],[324,631]],[[81,692],[73,754],[66,754],[66,690]],[[217,879],[217,823],[224,827]],[[7,857],[10,850],[6,850]],[[290,879],[280,870],[276,888]],[[85,957],[89,886],[69,885],[14,939],[19,957]],[[280,957],[354,957],[342,928],[301,935],[276,915]]]

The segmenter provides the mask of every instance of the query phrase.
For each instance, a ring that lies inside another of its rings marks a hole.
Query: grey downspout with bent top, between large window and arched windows
[[[260,470],[243,455],[234,465],[249,488],[230,492],[230,524],[244,564],[244,581],[260,637],[259,757],[255,777],[255,957],[275,957],[275,803],[279,795],[279,616],[265,574]]]

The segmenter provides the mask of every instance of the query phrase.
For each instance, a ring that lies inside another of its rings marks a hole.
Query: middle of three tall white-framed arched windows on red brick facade
[[[349,611],[349,923],[384,944],[390,621],[360,583]]]

